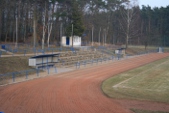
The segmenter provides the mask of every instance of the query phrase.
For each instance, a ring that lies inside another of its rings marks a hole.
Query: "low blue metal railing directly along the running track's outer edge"
[[[92,60],[84,60],[81,62],[75,63],[75,69],[79,69],[80,67],[87,65],[93,66],[94,64],[99,64],[103,62],[113,61],[113,60],[120,60],[122,57],[104,57],[104,58],[98,58],[98,59],[92,59]],[[30,69],[30,70],[24,70],[19,72],[10,72],[6,74],[0,74],[0,85],[3,84],[11,84],[16,82],[21,82],[25,80],[30,80],[38,77],[44,77],[50,74],[56,74],[58,73],[57,67],[42,67],[38,69]]]

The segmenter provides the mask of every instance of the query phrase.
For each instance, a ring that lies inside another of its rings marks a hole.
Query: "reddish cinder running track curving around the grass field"
[[[102,82],[118,73],[169,56],[149,54],[0,87],[5,113],[131,113],[106,97]]]

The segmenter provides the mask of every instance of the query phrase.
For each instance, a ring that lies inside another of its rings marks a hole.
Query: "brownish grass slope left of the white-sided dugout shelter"
[[[0,58],[0,74],[9,72],[18,72],[22,70],[32,69],[28,66],[30,57],[1,57]]]

